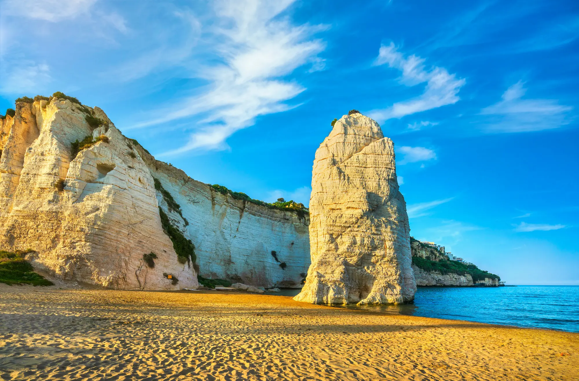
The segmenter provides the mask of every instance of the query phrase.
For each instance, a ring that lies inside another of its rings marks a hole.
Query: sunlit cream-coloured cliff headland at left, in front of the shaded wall
[[[87,116],[102,124],[91,127]],[[64,279],[122,289],[197,286],[192,264],[177,261],[163,233],[151,173],[102,110],[57,98],[18,102],[2,136],[0,249],[35,250],[28,254],[35,266]],[[77,140],[94,144],[76,154]],[[149,268],[143,256],[152,251]]]

